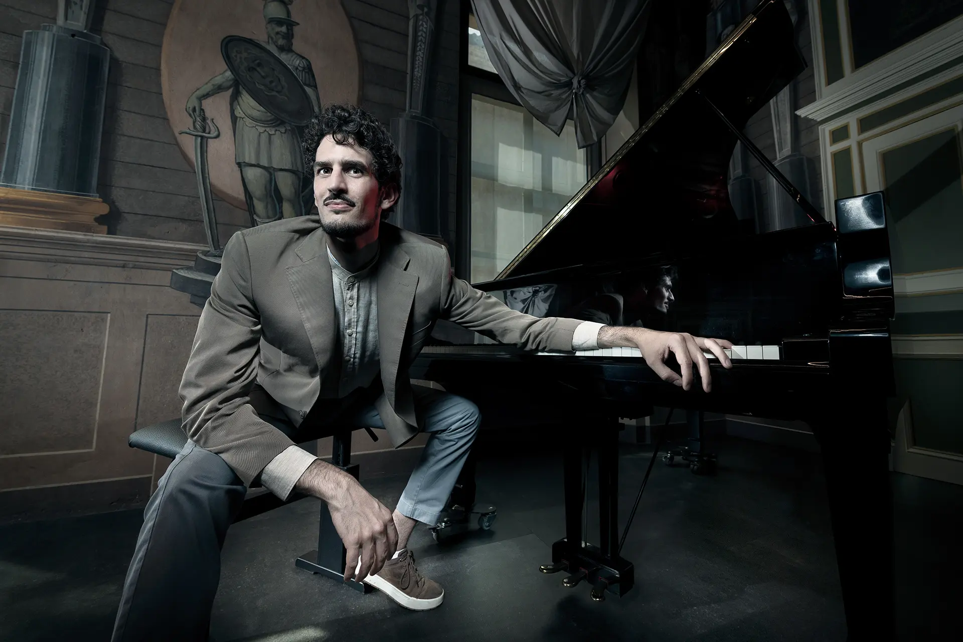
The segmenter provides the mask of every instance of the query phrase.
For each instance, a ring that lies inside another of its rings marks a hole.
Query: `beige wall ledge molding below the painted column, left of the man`
[[[162,270],[194,265],[206,244],[0,225],[0,260]]]

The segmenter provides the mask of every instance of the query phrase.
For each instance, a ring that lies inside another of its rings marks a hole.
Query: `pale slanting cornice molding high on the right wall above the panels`
[[[822,43],[818,45],[821,49]],[[828,120],[960,56],[963,56],[963,16],[823,88],[822,97],[797,110],[796,115],[820,122]]]

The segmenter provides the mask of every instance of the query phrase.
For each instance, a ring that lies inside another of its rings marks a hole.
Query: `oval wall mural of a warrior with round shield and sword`
[[[217,245],[205,184],[247,210],[252,225],[310,212],[300,133],[325,103],[358,104],[360,75],[338,0],[175,2],[161,85],[177,144],[197,171],[209,241],[213,232]]]

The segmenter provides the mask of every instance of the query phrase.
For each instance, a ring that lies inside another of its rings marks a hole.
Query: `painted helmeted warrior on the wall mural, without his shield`
[[[294,50],[295,22],[288,5],[293,0],[267,0],[264,21],[268,41],[265,45],[295,72],[315,113],[321,111],[318,83],[311,62]],[[234,159],[241,169],[241,181],[247,193],[247,205],[255,224],[278,217],[274,205],[274,187],[281,196],[283,218],[299,217],[301,178],[304,173],[300,138],[295,125],[274,116],[258,104],[244,89],[230,69],[201,85],[187,100],[187,113],[197,121],[204,110],[201,103],[221,91],[231,90],[231,117],[234,122]]]

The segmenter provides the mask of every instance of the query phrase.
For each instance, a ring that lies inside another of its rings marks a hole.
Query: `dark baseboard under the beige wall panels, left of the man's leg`
[[[143,508],[150,475],[0,492],[0,524]]]

